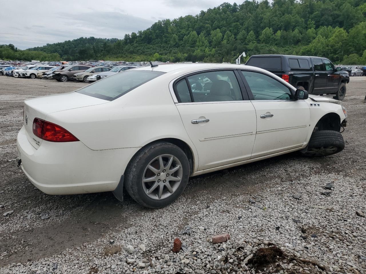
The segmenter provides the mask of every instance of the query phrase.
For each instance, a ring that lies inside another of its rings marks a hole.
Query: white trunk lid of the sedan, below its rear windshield
[[[39,118],[46,120],[47,114],[63,110],[76,109],[80,107],[104,104],[109,101],[92,96],[87,96],[77,92],[44,96],[28,99],[24,102],[24,126],[27,132],[28,141],[34,148],[38,149],[42,144],[42,139],[33,133],[33,120]],[[49,121],[52,122],[52,121]],[[62,127],[62,125],[60,125]]]

